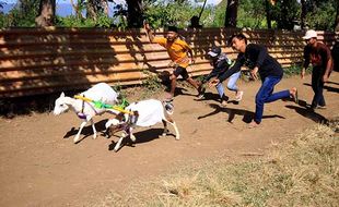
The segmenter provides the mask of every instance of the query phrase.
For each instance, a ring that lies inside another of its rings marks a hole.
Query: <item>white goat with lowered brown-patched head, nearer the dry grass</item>
[[[132,142],[136,142],[136,137],[132,134],[132,130],[135,126],[152,126],[156,123],[163,122],[164,131],[162,135],[165,136],[168,133],[167,123],[170,123],[175,130],[175,139],[178,141],[180,138],[176,123],[165,110],[162,101],[149,99],[132,102],[128,107],[126,107],[125,110],[130,111],[131,113],[121,112],[116,118],[109,119],[105,124],[108,136],[110,135],[110,131],[114,131],[114,129],[112,129],[110,126],[117,126],[118,129],[124,130],[121,137],[114,147],[115,151],[120,148],[122,139],[128,135]]]

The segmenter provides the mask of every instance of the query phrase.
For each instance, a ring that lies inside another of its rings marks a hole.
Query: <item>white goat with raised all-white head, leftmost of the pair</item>
[[[90,89],[81,93],[80,96],[107,105],[116,105],[118,102],[118,94],[108,84],[105,83],[98,83],[94,85]],[[54,114],[59,115],[67,112],[69,109],[73,110],[77,115],[83,120],[78,134],[74,136],[74,143],[80,141],[80,133],[89,121],[92,124],[93,138],[96,138],[96,129],[93,123],[93,117],[101,115],[107,111],[115,114],[118,113],[118,111],[113,109],[95,108],[93,102],[67,97],[63,93],[61,93],[60,97],[56,100]]]

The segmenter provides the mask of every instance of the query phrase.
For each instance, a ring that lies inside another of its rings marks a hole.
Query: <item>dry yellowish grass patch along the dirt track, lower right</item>
[[[261,158],[176,169],[97,206],[338,206],[338,127],[318,124]]]

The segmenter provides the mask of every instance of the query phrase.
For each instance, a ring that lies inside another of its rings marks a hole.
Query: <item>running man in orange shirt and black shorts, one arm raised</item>
[[[190,85],[192,85],[198,90],[198,96],[203,96],[203,88],[201,84],[198,84],[195,80],[192,80],[188,73],[186,68],[189,65],[189,62],[194,63],[194,56],[191,48],[187,45],[185,40],[178,38],[177,28],[175,26],[168,26],[165,37],[154,37],[153,32],[150,28],[148,23],[144,23],[144,29],[151,42],[155,42],[166,48],[167,53],[171,60],[174,63],[175,70],[173,74],[170,76],[171,80],[171,92],[168,99],[174,97],[174,92],[176,87],[176,80],[179,75],[183,76],[185,81],[187,81]],[[190,59],[187,53],[189,53]]]

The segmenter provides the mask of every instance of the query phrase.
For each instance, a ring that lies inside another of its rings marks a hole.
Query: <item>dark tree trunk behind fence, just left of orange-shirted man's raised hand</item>
[[[126,0],[128,11],[128,27],[140,28],[143,22],[142,0]]]

